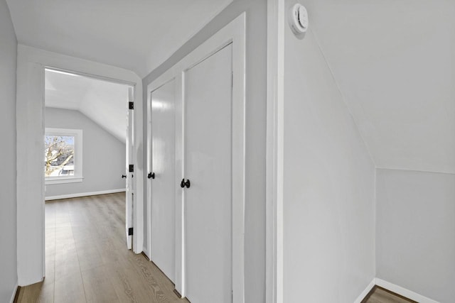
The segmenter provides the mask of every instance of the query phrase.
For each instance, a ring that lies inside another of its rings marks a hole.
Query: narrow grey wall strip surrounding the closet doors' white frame
[[[245,302],[263,303],[265,302],[267,1],[232,1],[232,4],[215,16],[207,26],[188,40],[166,62],[147,75],[142,82],[143,87],[146,87],[244,11],[246,11],[247,19]],[[146,93],[144,89],[144,100],[146,100]],[[144,119],[146,118],[144,117]]]

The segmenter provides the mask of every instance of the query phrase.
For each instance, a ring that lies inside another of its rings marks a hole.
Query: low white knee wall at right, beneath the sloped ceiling
[[[441,303],[455,298],[455,175],[377,172],[377,277]]]

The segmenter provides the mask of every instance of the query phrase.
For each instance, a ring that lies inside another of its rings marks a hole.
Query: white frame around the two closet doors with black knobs
[[[178,184],[184,175],[185,160],[184,74],[189,68],[232,43],[232,119],[236,119],[232,120],[232,302],[245,302],[245,23],[246,13],[244,12],[147,86],[147,104],[149,104],[151,92],[171,79],[176,79],[176,281],[174,282],[176,291],[182,297],[186,294],[185,203],[183,191]],[[181,119],[177,119],[178,117]],[[235,134],[240,136],[235,137]],[[147,158],[149,158],[149,152],[150,150],[147,151]],[[149,199],[146,203],[149,210],[151,206]],[[147,216],[149,228],[151,219],[149,211]],[[151,232],[148,229],[148,246],[151,245],[150,236]]]

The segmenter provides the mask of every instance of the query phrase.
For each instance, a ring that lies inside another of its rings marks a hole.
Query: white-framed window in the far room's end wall
[[[82,130],[45,128],[45,184],[82,182]]]

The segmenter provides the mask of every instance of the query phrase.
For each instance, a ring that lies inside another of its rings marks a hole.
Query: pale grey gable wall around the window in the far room
[[[125,106],[126,106],[125,100]],[[82,182],[48,184],[45,197],[124,189],[125,144],[80,111],[45,108],[45,127],[82,129]],[[126,135],[126,128],[125,128]]]

